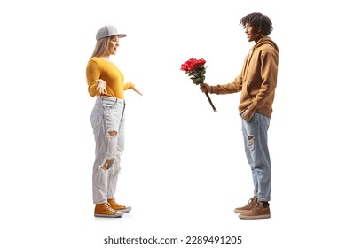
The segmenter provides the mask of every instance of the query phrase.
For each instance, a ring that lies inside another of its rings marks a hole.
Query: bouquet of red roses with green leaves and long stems
[[[185,74],[189,74],[189,77],[193,80],[193,83],[196,85],[200,85],[205,80],[206,76],[206,60],[203,58],[196,59],[190,58],[184,64],[181,65],[180,70],[185,71]],[[213,108],[214,112],[216,112],[216,108],[211,102],[208,92],[205,93],[209,104]]]

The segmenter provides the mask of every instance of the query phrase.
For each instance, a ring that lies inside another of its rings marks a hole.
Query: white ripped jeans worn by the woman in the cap
[[[120,160],[124,151],[125,102],[114,97],[97,97],[90,120],[95,138],[95,161],[92,172],[94,204],[114,198]],[[116,136],[111,135],[117,132]],[[107,167],[104,167],[105,164]]]

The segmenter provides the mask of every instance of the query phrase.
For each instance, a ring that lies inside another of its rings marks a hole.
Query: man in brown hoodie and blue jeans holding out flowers
[[[269,128],[277,84],[279,48],[268,36],[271,19],[251,13],[240,20],[248,42],[255,42],[245,58],[241,73],[232,83],[210,86],[201,84],[201,91],[210,94],[241,92],[239,112],[245,151],[254,182],[254,197],[247,205],[234,209],[240,219],[271,217],[271,159],[268,150]]]

